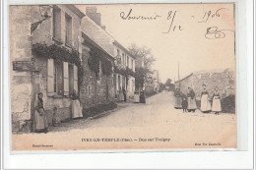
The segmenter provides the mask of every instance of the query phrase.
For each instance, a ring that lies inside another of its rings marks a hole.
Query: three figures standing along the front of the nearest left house
[[[35,133],[47,133],[48,132],[48,122],[47,116],[44,111],[43,107],[43,94],[41,92],[37,93],[37,98],[34,102],[34,114],[33,114],[33,131]],[[71,94],[71,117],[73,119],[82,118],[83,117],[83,108],[77,95],[76,90],[73,90]],[[58,115],[58,107],[54,107],[53,109],[53,118],[52,118],[52,125],[53,126],[60,126],[60,118]]]

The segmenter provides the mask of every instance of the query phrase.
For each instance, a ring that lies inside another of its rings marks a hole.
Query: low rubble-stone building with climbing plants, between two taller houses
[[[83,31],[82,39],[82,65],[84,73],[83,82],[80,87],[80,100],[83,108],[107,104],[114,100],[114,58]],[[92,64],[90,60],[93,58],[98,60],[98,73],[90,66]]]

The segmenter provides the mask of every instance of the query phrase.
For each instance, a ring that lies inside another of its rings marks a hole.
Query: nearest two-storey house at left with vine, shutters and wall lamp
[[[51,17],[42,21],[40,6],[10,6],[13,131],[31,125],[38,92],[51,124],[54,107],[62,120],[71,117],[70,94],[80,90],[80,21],[85,15],[73,5],[48,7]]]

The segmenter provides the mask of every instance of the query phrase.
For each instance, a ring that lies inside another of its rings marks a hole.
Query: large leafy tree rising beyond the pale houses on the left
[[[130,53],[136,57],[136,59],[144,59],[144,67],[136,68],[135,82],[136,86],[143,86],[148,81],[147,78],[153,74],[152,66],[154,65],[156,58],[152,55],[151,49],[143,46],[138,47],[135,43],[132,43],[128,47]]]

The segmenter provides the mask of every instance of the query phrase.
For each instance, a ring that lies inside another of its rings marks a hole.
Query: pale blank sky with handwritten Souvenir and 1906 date
[[[85,12],[88,6],[78,7]],[[152,50],[157,60],[154,69],[159,70],[162,83],[168,78],[178,80],[178,64],[180,79],[192,72],[235,68],[232,4],[119,4],[96,8],[101,25],[123,46],[135,43]],[[129,18],[129,12],[130,17],[148,20]]]

